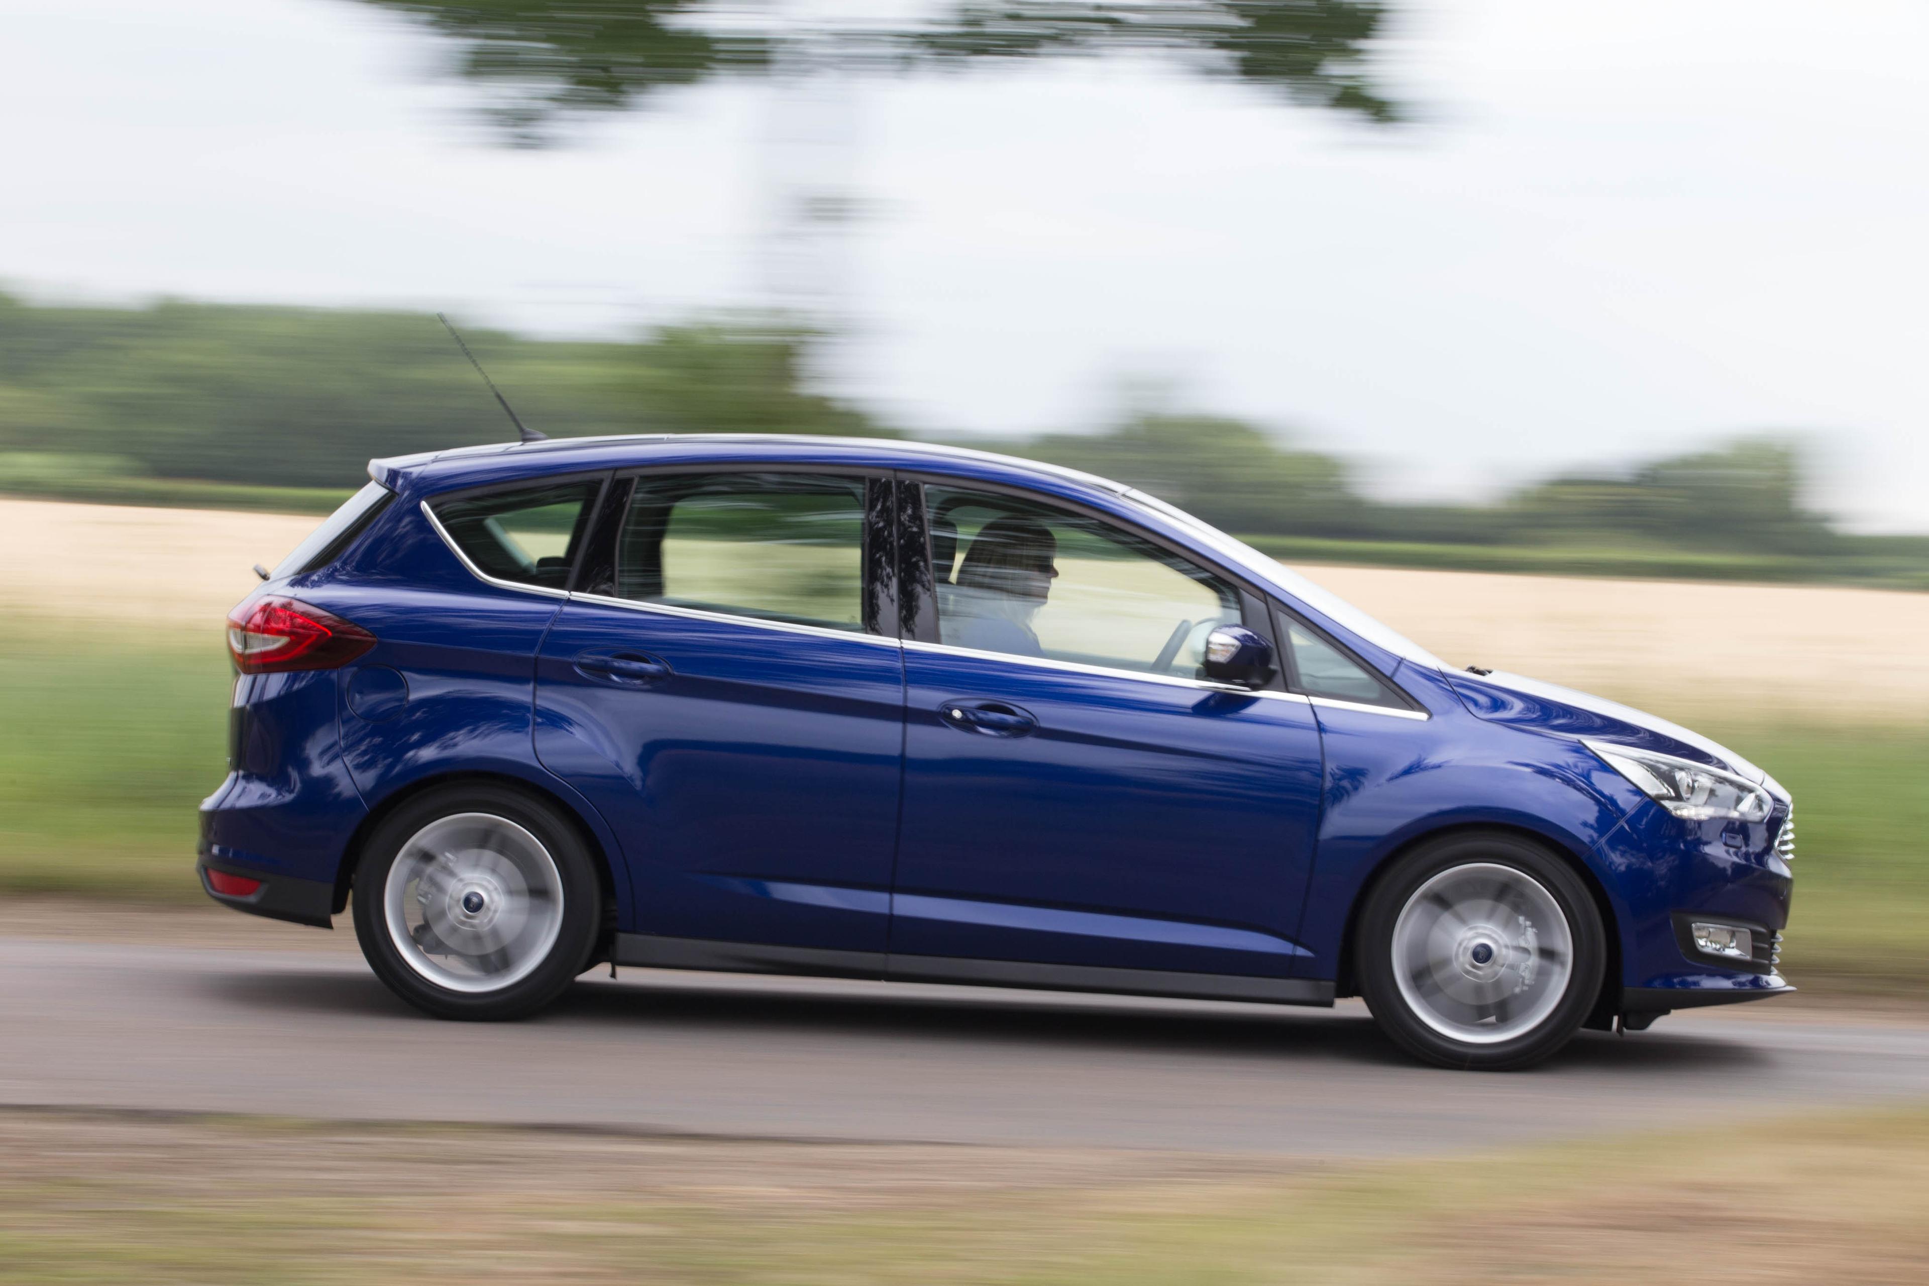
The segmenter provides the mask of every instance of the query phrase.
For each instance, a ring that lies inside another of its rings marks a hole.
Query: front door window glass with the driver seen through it
[[[1240,619],[1227,580],[1100,519],[941,486],[924,505],[943,644],[1196,679]]]

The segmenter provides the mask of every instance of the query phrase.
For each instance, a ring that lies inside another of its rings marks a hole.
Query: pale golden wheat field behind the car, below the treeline
[[[0,611],[15,621],[218,638],[228,609],[316,524],[307,515],[0,499]],[[1929,723],[1929,594],[1838,586],[1296,571],[1454,665],[1599,692],[1671,717]]]

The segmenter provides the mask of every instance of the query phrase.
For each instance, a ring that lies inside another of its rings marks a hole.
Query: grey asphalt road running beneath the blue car
[[[625,970],[480,1026],[343,951],[0,937],[4,1105],[1410,1155],[1910,1099],[1929,1026],[1890,1020],[1676,1014],[1478,1076],[1406,1062],[1354,1005]]]

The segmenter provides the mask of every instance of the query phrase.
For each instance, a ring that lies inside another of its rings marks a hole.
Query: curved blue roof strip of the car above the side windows
[[[368,461],[368,476],[407,496],[542,478],[594,469],[702,463],[810,463],[853,469],[910,469],[980,480],[1028,482],[1046,492],[1125,496],[1130,488],[1096,474],[901,438],[826,438],[812,434],[621,434],[610,438],[552,438],[498,442],[421,455]]]

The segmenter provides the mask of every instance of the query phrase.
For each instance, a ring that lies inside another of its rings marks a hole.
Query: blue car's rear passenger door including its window
[[[538,656],[536,752],[621,839],[625,931],[669,954],[885,951],[903,760],[889,496],[887,478],[795,467],[613,488]]]

